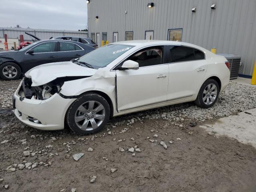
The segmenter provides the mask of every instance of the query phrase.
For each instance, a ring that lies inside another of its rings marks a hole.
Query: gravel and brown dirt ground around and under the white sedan
[[[256,188],[256,149],[196,126],[255,108],[256,88],[231,82],[212,108],[191,102],[138,112],[110,120],[95,135],[78,136],[68,129],[40,131],[20,123],[11,111],[19,82],[0,81],[0,191]]]

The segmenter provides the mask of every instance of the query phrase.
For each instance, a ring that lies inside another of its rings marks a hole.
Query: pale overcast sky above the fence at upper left
[[[87,28],[86,0],[0,0],[0,27]]]

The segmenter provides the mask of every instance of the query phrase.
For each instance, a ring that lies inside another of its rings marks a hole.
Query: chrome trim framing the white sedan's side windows
[[[149,46],[145,46],[143,48],[140,48],[138,50],[136,50],[135,52],[137,51],[140,51],[144,48],[148,48],[148,47],[154,47],[154,46],[165,46],[165,45],[168,45],[168,46],[183,46],[184,45],[174,45],[174,44],[161,44],[161,45],[149,45]],[[204,53],[204,51],[198,49],[198,48],[194,48],[194,47],[191,47],[191,46],[185,46],[185,47],[189,47],[189,48],[193,48],[193,49],[196,49],[196,50],[199,50],[201,51],[202,53]],[[126,60],[128,57],[130,57],[133,53],[131,53],[129,56],[127,56],[126,58],[124,58],[122,61],[120,61],[118,64],[116,64],[116,66],[120,65],[120,63],[124,62],[124,60]],[[116,58],[117,59],[117,58]],[[174,63],[183,63],[183,62],[191,62],[191,61],[200,61],[200,60],[206,60],[206,56],[205,56],[205,53],[204,53],[204,59],[197,59],[197,60],[189,60],[189,61],[180,61],[180,62],[171,62],[171,63],[163,63],[163,64],[158,64],[158,65],[150,65],[150,66],[144,66],[144,67],[152,67],[152,66],[159,66],[159,65],[166,65],[166,64],[174,64]],[[116,68],[116,66],[114,66],[110,71],[119,71],[119,70],[114,70],[114,68]],[[139,67],[139,68],[144,68],[144,67]]]

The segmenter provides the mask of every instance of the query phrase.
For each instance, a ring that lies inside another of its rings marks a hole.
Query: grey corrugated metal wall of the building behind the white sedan
[[[154,2],[154,7],[148,8],[148,2]],[[217,4],[216,10],[210,9],[212,4]],[[252,75],[256,0],[91,0],[88,17],[89,37],[100,33],[100,42],[102,32],[108,33],[109,42],[113,32],[118,32],[121,41],[126,31],[134,32],[134,40],[144,39],[146,30],[154,30],[154,39],[167,40],[168,29],[182,28],[183,42],[241,55],[240,74]]]

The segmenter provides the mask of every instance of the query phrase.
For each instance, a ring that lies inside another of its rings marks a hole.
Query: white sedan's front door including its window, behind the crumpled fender
[[[169,74],[163,54],[162,46],[139,50],[126,59],[138,62],[138,70],[116,71],[119,112],[166,102]]]

